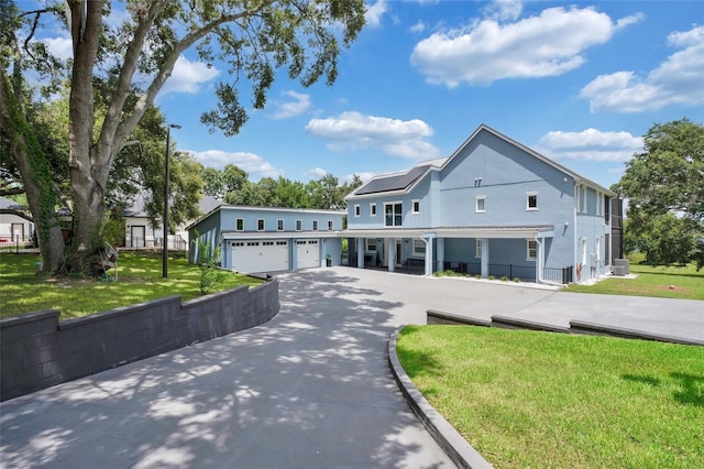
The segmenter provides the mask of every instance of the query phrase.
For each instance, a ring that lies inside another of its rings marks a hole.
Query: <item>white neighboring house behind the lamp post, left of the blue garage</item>
[[[206,196],[198,204],[202,214],[212,210],[222,201]],[[144,194],[138,194],[132,207],[124,211],[124,246],[127,248],[160,248],[164,240],[162,226],[152,226],[150,217],[144,211]],[[175,234],[168,236],[168,249],[188,250],[188,231],[186,225],[178,227]]]

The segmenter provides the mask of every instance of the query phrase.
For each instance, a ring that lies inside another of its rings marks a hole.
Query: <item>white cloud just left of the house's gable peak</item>
[[[404,121],[348,111],[337,118],[311,119],[306,131],[326,140],[333,151],[381,149],[391,156],[416,160],[433,159],[439,153],[424,140],[432,135],[432,129],[419,119]]]

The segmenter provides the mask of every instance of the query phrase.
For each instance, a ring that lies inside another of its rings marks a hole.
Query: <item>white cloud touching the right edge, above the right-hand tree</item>
[[[646,77],[635,72],[600,75],[582,88],[592,112],[641,112],[669,105],[704,103],[704,26],[674,32],[668,43],[681,51]]]

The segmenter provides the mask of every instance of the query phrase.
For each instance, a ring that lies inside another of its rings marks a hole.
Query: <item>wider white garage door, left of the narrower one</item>
[[[248,273],[289,270],[288,241],[234,241],[232,270]]]

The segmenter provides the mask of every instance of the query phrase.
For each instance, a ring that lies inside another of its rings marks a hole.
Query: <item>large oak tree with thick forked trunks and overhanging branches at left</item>
[[[321,77],[330,85],[337,77],[340,43],[350,45],[364,24],[363,0],[141,0],[124,4],[127,19],[111,25],[107,21],[109,1],[48,2],[46,9],[30,13],[0,0],[0,122],[38,221],[44,270],[57,269],[64,246],[56,220],[47,216],[48,207],[55,205],[55,192],[46,155],[25,119],[26,81],[22,77],[29,69],[56,73],[61,67],[41,42],[32,40],[42,25],[35,19],[53,15],[73,43],[65,79],[70,87],[74,270],[84,270],[96,249],[116,157],[184,52],[195,50],[201,61],[229,68],[223,75],[230,81],[217,86],[218,108],[201,121],[233,135],[246,121],[248,105],[240,97],[243,83],[251,86],[251,106],[257,109],[264,107],[280,68],[305,87]],[[106,105],[100,119],[97,100]]]

